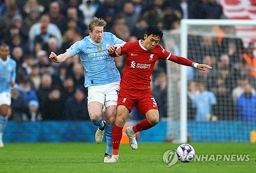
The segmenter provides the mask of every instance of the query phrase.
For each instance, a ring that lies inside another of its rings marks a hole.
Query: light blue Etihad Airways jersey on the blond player
[[[114,58],[109,56],[111,45],[121,44],[123,40],[110,32],[104,32],[100,43],[94,42],[90,35],[76,41],[68,51],[72,56],[79,54],[84,67],[84,87],[103,85],[120,81]]]

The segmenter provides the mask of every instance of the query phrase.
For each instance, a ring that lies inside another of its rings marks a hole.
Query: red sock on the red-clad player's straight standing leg
[[[113,143],[113,155],[118,155],[120,141],[122,139],[123,127],[118,127],[116,124],[112,128],[112,143]]]

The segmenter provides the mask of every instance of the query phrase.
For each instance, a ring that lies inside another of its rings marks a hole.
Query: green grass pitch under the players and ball
[[[255,172],[256,144],[190,143],[197,155],[249,155],[249,161],[177,162],[166,167],[162,156],[173,143],[121,144],[118,163],[103,163],[106,144],[6,143],[0,148],[0,172]]]

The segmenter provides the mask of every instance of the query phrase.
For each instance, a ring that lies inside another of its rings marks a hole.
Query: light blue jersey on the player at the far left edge
[[[0,93],[11,92],[10,81],[16,78],[16,61],[7,57],[6,61],[0,58]]]

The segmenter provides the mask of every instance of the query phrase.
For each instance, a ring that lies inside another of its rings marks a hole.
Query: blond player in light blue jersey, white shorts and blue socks
[[[98,126],[95,134],[96,143],[101,143],[106,126],[106,152],[104,162],[112,154],[112,127],[117,111],[117,97],[120,90],[120,74],[108,48],[116,45],[120,53],[125,42],[109,32],[103,32],[106,22],[94,17],[88,26],[89,36],[76,41],[65,53],[58,56],[51,52],[53,62],[64,62],[79,54],[84,68],[84,87],[88,88],[88,111],[92,122]],[[102,107],[105,106],[106,122],[102,120]]]

